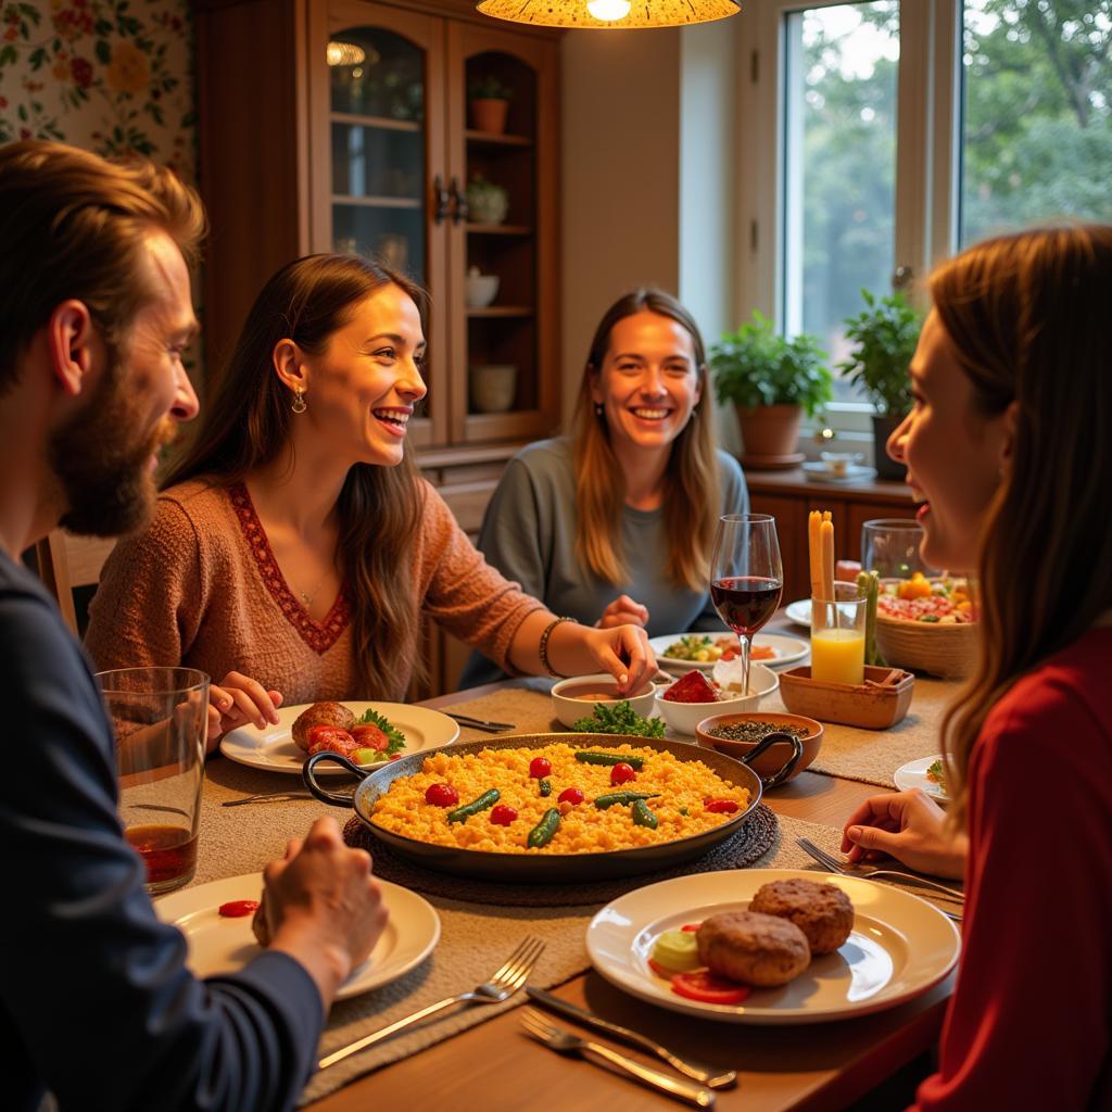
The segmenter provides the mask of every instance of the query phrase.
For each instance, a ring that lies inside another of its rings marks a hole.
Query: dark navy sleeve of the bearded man
[[[111,728],[80,646],[0,555],[0,1075],[16,1109],[292,1108],[322,1022],[265,953],[198,981],[122,837]]]

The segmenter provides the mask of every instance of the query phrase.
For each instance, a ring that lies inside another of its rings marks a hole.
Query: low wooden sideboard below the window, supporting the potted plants
[[[755,514],[776,518],[784,563],[785,603],[811,595],[807,558],[807,514],[828,509],[834,519],[838,559],[861,559],[861,527],[878,517],[914,518],[911,494],[903,483],[863,483],[854,486],[814,483],[802,471],[746,471]]]

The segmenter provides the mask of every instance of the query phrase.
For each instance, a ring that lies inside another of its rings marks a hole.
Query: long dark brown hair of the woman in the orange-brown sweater
[[[275,346],[291,339],[319,355],[355,307],[390,284],[413,298],[424,327],[425,291],[378,262],[310,255],[282,267],[251,306],[197,436],[163,487],[196,477],[232,486],[277,458],[289,440],[292,416],[289,391],[271,365]],[[340,489],[338,562],[351,606],[360,688],[353,697],[397,694],[409,678],[414,662],[401,646],[418,620],[409,563],[423,506],[408,444],[397,467],[356,464]]]

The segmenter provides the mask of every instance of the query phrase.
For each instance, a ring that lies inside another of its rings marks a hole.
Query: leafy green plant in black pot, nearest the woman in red
[[[900,290],[877,298],[863,289],[861,296],[865,308],[844,321],[845,337],[854,348],[837,369],[854,386],[860,386],[876,407],[873,416],[876,474],[881,478],[902,479],[904,469],[888,458],[885,445],[911,409],[907,365],[915,354],[923,322]]]

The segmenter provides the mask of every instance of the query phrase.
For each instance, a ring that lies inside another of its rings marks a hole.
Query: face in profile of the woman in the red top
[[[936,312],[923,324],[911,364],[914,405],[888,438],[888,455],[907,467],[925,536],[923,559],[953,572],[975,568],[985,510],[1011,444],[1011,415],[986,417]]]

